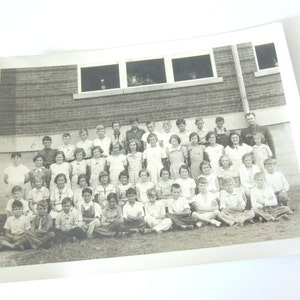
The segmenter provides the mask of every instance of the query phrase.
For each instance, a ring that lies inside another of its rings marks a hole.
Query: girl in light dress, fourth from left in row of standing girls
[[[90,185],[93,190],[99,185],[99,174],[105,170],[106,158],[102,154],[101,147],[95,146],[92,148],[93,157],[88,161],[87,172],[90,175]]]

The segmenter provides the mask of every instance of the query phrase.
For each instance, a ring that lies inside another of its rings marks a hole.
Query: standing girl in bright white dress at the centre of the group
[[[157,146],[157,137],[154,133],[150,133],[147,138],[147,142],[150,144],[144,153],[144,165],[150,173],[151,181],[157,184],[159,178],[159,172],[163,165],[166,163],[166,151]]]

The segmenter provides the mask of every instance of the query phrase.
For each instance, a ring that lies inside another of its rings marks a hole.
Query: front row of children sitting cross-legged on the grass
[[[251,209],[246,209],[246,201],[240,189],[235,188],[232,177],[223,179],[223,188],[217,196],[208,191],[208,181],[200,177],[199,193],[188,200],[182,196],[182,187],[178,183],[171,185],[171,197],[167,203],[159,200],[157,191],[146,191],[148,202],[138,201],[136,191],[126,191],[126,203],[118,205],[114,192],[107,195],[107,203],[101,207],[90,188],[82,190],[83,201],[73,206],[72,198],[65,197],[60,203],[51,203],[48,214],[46,200],[36,204],[36,214],[31,220],[27,202],[21,199],[22,189],[13,188],[14,200],[11,215],[4,228],[6,234],[0,238],[0,248],[36,249],[49,247],[53,241],[82,240],[93,236],[123,236],[132,233],[163,232],[173,229],[200,228],[203,224],[220,227],[252,222],[256,217],[263,221],[288,219],[293,212],[286,205],[278,205],[276,195],[266,184],[265,174],[254,175],[255,187],[251,190]],[[54,227],[53,215],[55,212]],[[30,230],[29,230],[30,228]]]

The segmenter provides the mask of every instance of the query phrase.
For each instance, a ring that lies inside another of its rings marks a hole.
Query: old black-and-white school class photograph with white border
[[[300,237],[278,24],[0,72],[1,268]]]

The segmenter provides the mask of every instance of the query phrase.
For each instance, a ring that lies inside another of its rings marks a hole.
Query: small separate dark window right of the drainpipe
[[[278,67],[278,60],[274,43],[255,46],[259,70]]]

